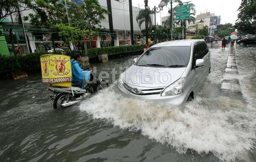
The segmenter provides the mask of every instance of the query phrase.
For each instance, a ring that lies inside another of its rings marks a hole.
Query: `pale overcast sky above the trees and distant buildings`
[[[189,1],[189,0],[182,0],[183,2]],[[154,6],[158,6],[161,0],[148,0],[148,6],[150,8],[154,8]],[[128,0],[125,2],[128,3]],[[140,8],[144,7],[144,0],[132,0],[133,6],[139,6]],[[232,23],[233,25],[236,22],[237,14],[239,13],[237,9],[239,8],[241,4],[241,0],[191,0],[191,3],[195,4],[195,10],[196,15],[200,14],[201,12],[211,12],[215,13],[215,16],[221,16],[221,24],[225,23]],[[173,5],[176,6],[175,3]],[[170,4],[168,4],[167,7],[170,8]],[[168,15],[168,8],[164,7],[163,11],[161,11],[161,16],[167,16]],[[160,24],[160,13],[156,15],[157,23]]]

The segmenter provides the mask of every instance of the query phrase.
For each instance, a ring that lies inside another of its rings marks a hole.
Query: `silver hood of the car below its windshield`
[[[132,65],[120,77],[125,84],[139,87],[166,87],[178,80],[186,67],[159,68]]]

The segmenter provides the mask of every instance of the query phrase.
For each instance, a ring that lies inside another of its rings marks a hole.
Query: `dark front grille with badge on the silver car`
[[[160,94],[164,88],[151,88],[151,89],[138,89],[138,88],[131,88],[129,85],[123,83],[124,87],[133,94],[137,95],[153,95],[153,94]]]

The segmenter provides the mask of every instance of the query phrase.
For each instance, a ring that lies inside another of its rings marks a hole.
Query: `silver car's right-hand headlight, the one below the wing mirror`
[[[175,96],[175,95],[181,94],[183,92],[183,85],[185,80],[186,80],[185,77],[181,77],[176,82],[166,87],[162,91],[161,96]]]

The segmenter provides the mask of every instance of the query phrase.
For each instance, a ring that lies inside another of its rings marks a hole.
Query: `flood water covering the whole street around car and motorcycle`
[[[185,108],[124,98],[113,83],[55,110],[41,74],[0,81],[0,161],[256,161],[256,47],[236,48],[236,76],[224,74],[228,49],[210,51],[211,74]],[[136,57],[91,66],[117,79]],[[240,97],[221,95],[232,77]]]

